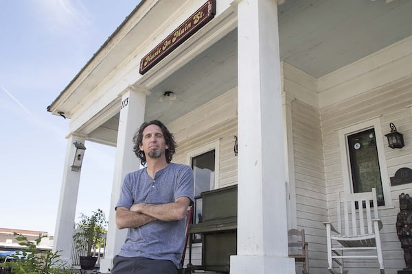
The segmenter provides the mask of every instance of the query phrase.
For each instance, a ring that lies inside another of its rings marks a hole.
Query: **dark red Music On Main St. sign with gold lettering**
[[[216,0],[209,0],[201,8],[196,10],[192,16],[187,18],[183,24],[172,32],[168,37],[152,49],[140,61],[140,74],[146,73],[152,66],[155,66],[160,60],[165,58],[176,47],[181,45],[187,38],[192,36],[216,14]]]

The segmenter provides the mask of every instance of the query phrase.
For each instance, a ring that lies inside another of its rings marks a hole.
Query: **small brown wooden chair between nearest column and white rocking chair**
[[[295,262],[303,264],[303,274],[309,274],[308,242],[305,241],[305,230],[288,230],[289,257],[295,258]]]

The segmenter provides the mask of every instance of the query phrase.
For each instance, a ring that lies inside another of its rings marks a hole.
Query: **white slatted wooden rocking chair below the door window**
[[[371,192],[338,193],[336,211],[338,229],[335,229],[330,222],[324,223],[328,240],[330,273],[336,273],[334,262],[335,266],[336,264],[339,266],[341,273],[346,273],[347,271],[343,269],[343,261],[347,258],[363,260],[377,258],[380,273],[385,273],[379,234],[382,222],[378,218],[375,188],[372,188]],[[369,252],[365,253],[365,251]],[[373,251],[372,255],[371,251]]]

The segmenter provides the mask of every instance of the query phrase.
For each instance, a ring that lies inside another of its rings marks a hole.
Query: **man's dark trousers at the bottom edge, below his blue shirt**
[[[169,260],[152,260],[143,257],[113,258],[113,270],[111,274],[176,274],[177,269]]]

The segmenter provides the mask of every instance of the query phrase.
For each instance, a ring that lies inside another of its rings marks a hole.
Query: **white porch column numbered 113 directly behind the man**
[[[133,152],[133,134],[144,122],[146,95],[150,92],[129,86],[122,94],[119,129],[115,156],[115,171],[111,192],[111,206],[108,214],[108,232],[104,260],[100,262],[100,272],[108,273],[113,266],[113,258],[119,253],[126,238],[127,229],[117,229],[115,206],[120,195],[124,176],[140,168],[140,160]]]

